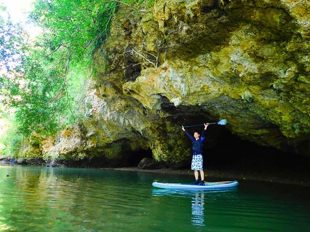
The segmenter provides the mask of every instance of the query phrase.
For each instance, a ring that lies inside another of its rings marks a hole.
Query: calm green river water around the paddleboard
[[[0,231],[310,231],[310,188],[238,180],[232,190],[180,191],[154,181],[192,176],[0,165]]]

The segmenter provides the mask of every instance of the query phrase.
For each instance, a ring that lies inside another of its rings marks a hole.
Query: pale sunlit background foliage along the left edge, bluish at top
[[[5,10],[0,5],[0,155],[10,157],[19,149],[22,136],[16,136],[13,110],[6,109],[2,102],[6,101],[7,86],[10,84],[7,81],[10,76],[6,74],[13,72],[20,64],[27,36],[19,24],[12,23]],[[13,85],[12,90],[15,88]]]

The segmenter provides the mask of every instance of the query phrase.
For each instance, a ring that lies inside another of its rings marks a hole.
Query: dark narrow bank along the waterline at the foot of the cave
[[[190,169],[138,169],[137,167],[123,167],[123,168],[106,168],[113,170],[133,171],[133,172],[148,172],[148,173],[160,173],[160,174],[184,174],[194,175],[193,170]],[[310,187],[310,178],[308,174],[297,174],[297,173],[283,173],[282,171],[273,172],[265,171],[240,171],[240,170],[211,170],[205,169],[205,180],[208,181],[210,178],[220,178],[225,180],[255,180],[269,183],[279,183],[286,185],[299,185],[304,187]]]

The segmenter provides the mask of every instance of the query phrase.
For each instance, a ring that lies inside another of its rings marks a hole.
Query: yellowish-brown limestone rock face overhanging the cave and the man
[[[180,125],[225,118],[242,140],[310,156],[309,51],[309,0],[121,4],[95,54],[88,119],[57,150],[150,148],[178,162],[190,155]]]

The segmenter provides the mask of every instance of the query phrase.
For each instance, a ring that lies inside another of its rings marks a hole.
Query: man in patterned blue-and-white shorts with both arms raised
[[[200,137],[200,134],[198,132],[194,133],[194,136],[192,136],[190,133],[188,133],[184,126],[181,127],[181,129],[186,133],[186,135],[193,141],[193,158],[192,158],[192,164],[191,164],[191,170],[194,170],[195,175],[195,183],[194,185],[204,185],[204,172],[202,167],[202,142],[204,140],[204,132],[207,130],[207,127],[209,126],[209,123],[204,123],[204,130],[202,131],[202,137]],[[202,181],[199,183],[199,173]]]

